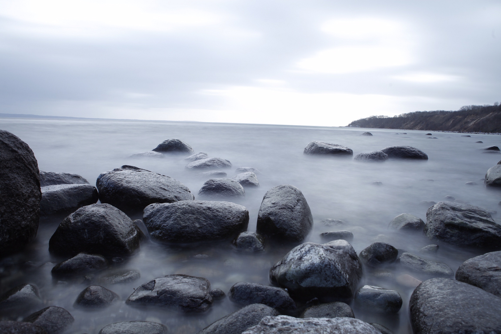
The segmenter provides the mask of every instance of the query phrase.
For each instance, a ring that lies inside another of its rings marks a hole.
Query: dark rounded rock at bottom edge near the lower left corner
[[[50,334],[58,334],[70,327],[75,319],[63,307],[49,306],[28,315],[23,321],[36,324]]]

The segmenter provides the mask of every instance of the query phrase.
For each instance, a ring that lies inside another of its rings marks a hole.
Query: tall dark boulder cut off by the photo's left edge
[[[0,130],[0,157],[1,257],[35,239],[42,192],[37,159],[28,144]]]

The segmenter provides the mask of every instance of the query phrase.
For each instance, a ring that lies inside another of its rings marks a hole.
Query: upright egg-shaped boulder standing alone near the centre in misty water
[[[313,227],[305,196],[289,184],[268,190],[258,212],[257,232],[285,241],[303,241]]]

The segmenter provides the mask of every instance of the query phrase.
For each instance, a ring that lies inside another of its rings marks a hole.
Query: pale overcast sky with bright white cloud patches
[[[500,78],[499,1],[0,0],[0,113],[346,126]]]

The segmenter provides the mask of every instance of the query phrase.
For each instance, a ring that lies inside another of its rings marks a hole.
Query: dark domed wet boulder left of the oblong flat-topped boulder
[[[139,227],[116,207],[92,204],[63,219],[49,240],[49,251],[61,256],[129,255],[139,248],[142,237]]]

